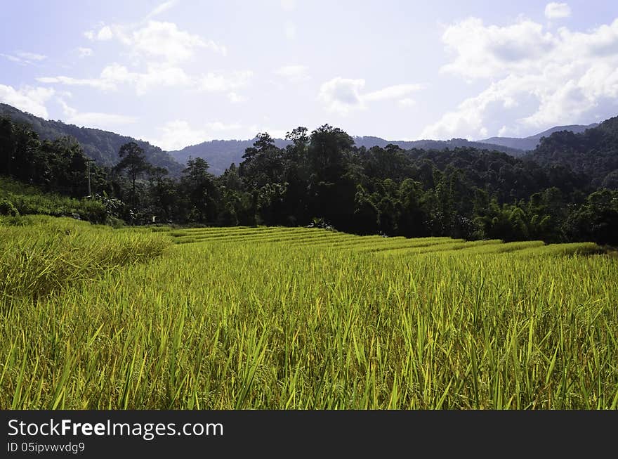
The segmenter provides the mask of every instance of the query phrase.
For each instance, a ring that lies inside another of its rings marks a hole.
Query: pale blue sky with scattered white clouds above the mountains
[[[324,123],[390,140],[618,115],[618,2],[3,1],[0,101],[166,150]]]

